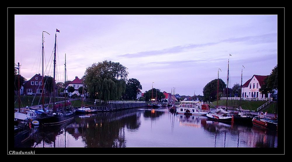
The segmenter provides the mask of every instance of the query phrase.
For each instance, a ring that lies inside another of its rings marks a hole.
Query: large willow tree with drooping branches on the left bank
[[[103,61],[86,68],[83,76],[89,98],[119,100],[125,93],[127,68],[119,62]]]

